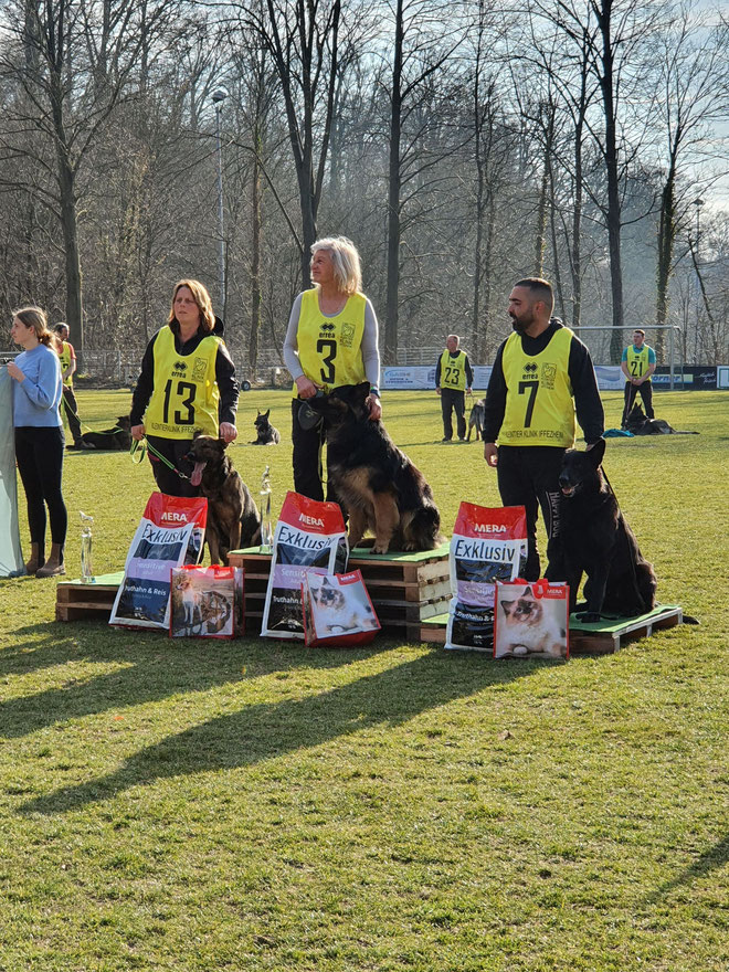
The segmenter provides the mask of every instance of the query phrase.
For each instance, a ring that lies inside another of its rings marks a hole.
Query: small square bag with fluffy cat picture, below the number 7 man
[[[495,658],[569,658],[570,589],[547,580],[496,584]]]

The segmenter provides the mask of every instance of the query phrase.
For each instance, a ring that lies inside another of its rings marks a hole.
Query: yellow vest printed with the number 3
[[[367,381],[362,362],[366,298],[352,294],[336,317],[319,310],[318,290],[304,290],[296,341],[304,374],[326,392]],[[294,383],[294,398],[298,391]]]

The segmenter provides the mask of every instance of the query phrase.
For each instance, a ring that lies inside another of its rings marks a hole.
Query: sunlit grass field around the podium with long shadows
[[[80,412],[108,427],[129,398]],[[270,406],[282,446],[232,455],[254,493],[271,464],[277,509],[288,395],[244,394],[239,423]],[[499,505],[480,445],[436,444],[434,394],[384,410],[446,529]],[[172,642],[0,581],[0,970],[723,972],[729,394],[656,413],[701,434],[613,440],[605,466],[659,599],[701,626],[617,655]],[[119,569],[149,469],[70,453],[64,484],[70,574],[80,509]]]

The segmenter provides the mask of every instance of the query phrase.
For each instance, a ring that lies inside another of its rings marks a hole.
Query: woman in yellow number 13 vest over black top
[[[145,351],[141,373],[131,399],[131,437],[149,444],[175,468],[150,454],[157,486],[168,496],[197,496],[186,461],[196,431],[220,435],[226,443],[237,436],[235,368],[219,335],[210,295],[199,281],[175,285],[165,327]]]

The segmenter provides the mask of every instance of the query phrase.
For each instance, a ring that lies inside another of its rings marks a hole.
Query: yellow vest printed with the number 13
[[[145,429],[161,439],[192,439],[200,430],[218,437],[215,358],[220,338],[208,335],[191,355],[175,350],[169,327],[157,334],[154,347],[154,391],[145,413]]]

